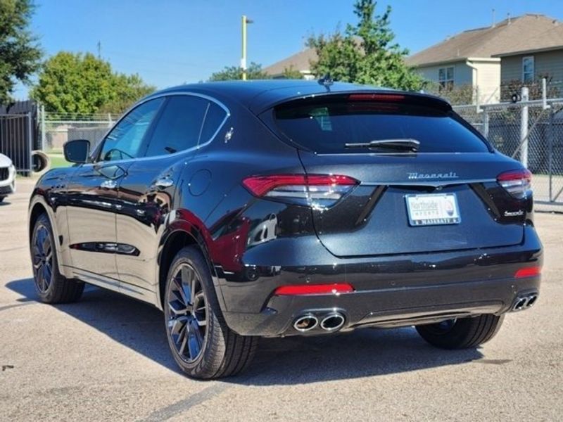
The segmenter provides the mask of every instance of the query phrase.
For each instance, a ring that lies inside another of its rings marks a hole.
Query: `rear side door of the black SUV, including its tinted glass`
[[[128,252],[116,255],[122,288],[154,302],[158,290],[156,259],[167,215],[185,167],[227,117],[226,109],[196,95],[167,98],[147,143],[145,158],[134,162],[119,188],[117,241]],[[213,129],[212,129],[213,128]],[[187,181],[185,181],[187,183]]]

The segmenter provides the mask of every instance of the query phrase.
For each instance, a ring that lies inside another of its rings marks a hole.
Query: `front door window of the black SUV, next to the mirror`
[[[123,117],[106,136],[100,160],[115,161],[139,157],[143,138],[163,102],[164,98],[147,101]]]

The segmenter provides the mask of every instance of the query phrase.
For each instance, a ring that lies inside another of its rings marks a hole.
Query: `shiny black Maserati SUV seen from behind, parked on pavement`
[[[90,283],[163,309],[189,376],[238,373],[259,337],[416,326],[476,347],[538,297],[531,174],[434,96],[184,85],[65,156],[30,203],[40,298]]]

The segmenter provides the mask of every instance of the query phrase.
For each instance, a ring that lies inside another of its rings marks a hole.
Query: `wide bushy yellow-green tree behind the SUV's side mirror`
[[[122,113],[152,91],[139,75],[114,73],[91,53],[61,51],[46,60],[31,96],[48,111],[76,115]]]

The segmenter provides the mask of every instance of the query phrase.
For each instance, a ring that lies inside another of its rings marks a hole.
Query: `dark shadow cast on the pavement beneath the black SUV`
[[[38,299],[32,279],[11,281],[7,287],[23,295],[21,305]],[[87,286],[80,302],[56,308],[178,372],[158,309],[94,286]],[[291,385],[416,371],[482,357],[478,350],[438,350],[426,345],[414,328],[366,328],[339,335],[262,339],[250,369],[224,381]]]

